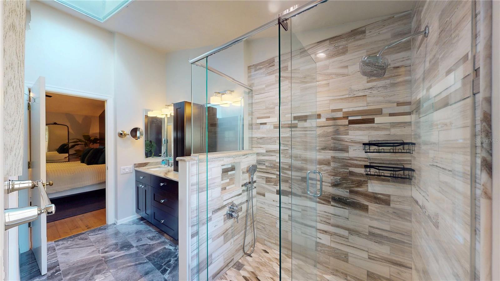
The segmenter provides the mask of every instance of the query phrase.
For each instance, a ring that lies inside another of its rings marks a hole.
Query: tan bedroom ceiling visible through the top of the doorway
[[[45,92],[45,111],[99,116],[104,110],[104,101],[72,95]]]

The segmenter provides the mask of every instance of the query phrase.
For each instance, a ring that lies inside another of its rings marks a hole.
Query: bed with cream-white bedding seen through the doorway
[[[87,165],[85,163],[46,163],[46,186],[49,197],[65,196],[100,188],[105,188],[106,164]]]

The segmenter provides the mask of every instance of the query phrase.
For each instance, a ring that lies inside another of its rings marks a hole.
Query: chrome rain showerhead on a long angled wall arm
[[[406,36],[402,39],[399,39],[395,42],[386,45],[376,55],[363,56],[359,61],[359,72],[361,73],[361,75],[366,77],[372,77],[372,78],[383,77],[383,75],[385,75],[385,70],[387,70],[387,65],[389,65],[389,60],[386,57],[382,56],[382,52],[393,45],[399,44],[403,41],[406,41],[408,39],[411,39],[415,36],[422,34],[425,37],[428,36],[429,26],[425,26],[425,28],[418,33],[411,34],[409,36]]]

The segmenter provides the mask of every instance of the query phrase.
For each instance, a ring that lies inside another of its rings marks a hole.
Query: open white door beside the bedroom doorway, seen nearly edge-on
[[[30,95],[34,98],[30,112],[30,154],[31,180],[45,182],[45,77],[38,77],[31,87]],[[38,188],[31,189],[32,205],[42,206]],[[31,222],[31,244],[40,273],[47,273],[47,215],[42,213]]]

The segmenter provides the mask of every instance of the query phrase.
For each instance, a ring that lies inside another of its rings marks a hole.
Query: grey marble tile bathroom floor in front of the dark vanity
[[[19,263],[22,281],[178,281],[176,241],[141,218],[48,242],[43,276],[31,250],[21,253]]]

